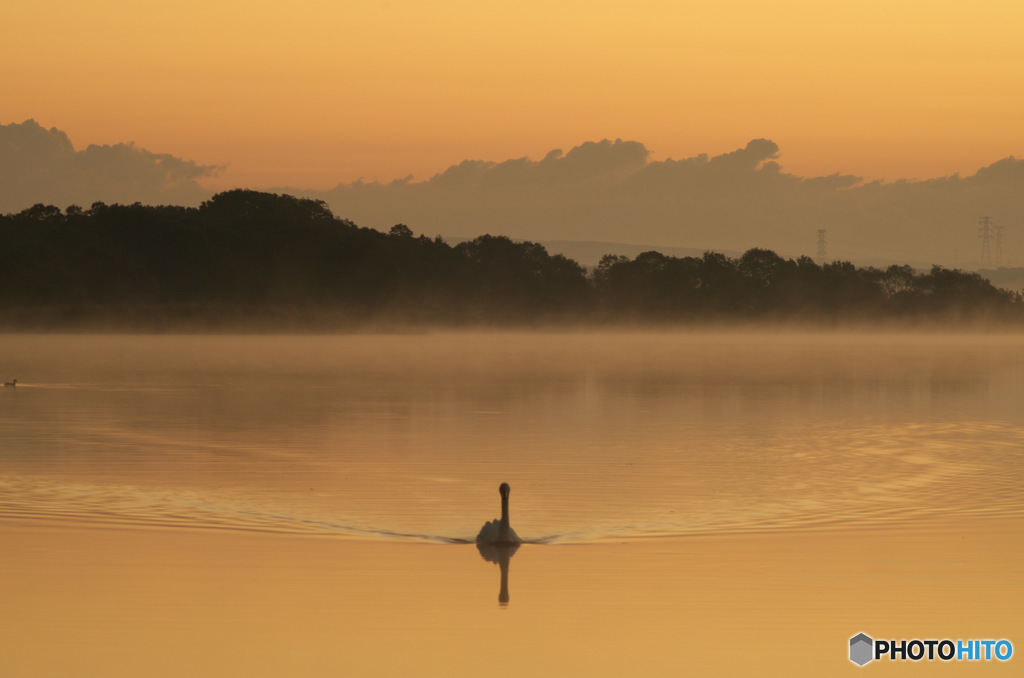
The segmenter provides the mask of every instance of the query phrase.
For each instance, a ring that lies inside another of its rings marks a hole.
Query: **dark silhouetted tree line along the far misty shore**
[[[323,201],[229,190],[198,208],[36,205],[0,216],[0,324],[315,327],[1024,317],[973,272],[819,265],[752,249],[607,255],[592,271],[536,243],[384,234]]]

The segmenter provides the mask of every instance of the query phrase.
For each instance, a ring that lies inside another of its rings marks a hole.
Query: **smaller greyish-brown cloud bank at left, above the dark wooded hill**
[[[68,135],[35,120],[0,125],[0,212],[36,203],[88,207],[94,202],[198,205],[199,180],[219,168],[132,143],[76,151]]]

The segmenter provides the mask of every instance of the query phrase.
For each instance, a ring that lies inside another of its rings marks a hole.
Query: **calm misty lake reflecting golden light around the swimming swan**
[[[10,675],[1024,647],[1018,335],[4,335],[0,370]],[[503,481],[527,543],[502,558],[472,541]]]

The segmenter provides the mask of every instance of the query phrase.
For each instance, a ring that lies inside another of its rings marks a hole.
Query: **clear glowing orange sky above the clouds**
[[[752,138],[786,171],[1024,155],[1024,3],[36,0],[4,9],[0,123],[226,165],[211,187],[427,178],[466,158]]]

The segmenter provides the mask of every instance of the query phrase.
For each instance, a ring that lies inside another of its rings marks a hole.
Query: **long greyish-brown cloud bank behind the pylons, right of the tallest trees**
[[[849,174],[790,174],[780,156],[769,139],[656,162],[637,141],[588,141],[537,161],[468,160],[424,181],[354,182],[306,195],[361,225],[400,222],[458,238],[490,232],[815,256],[823,228],[826,259],[879,265],[982,265],[978,218],[1012,226],[1024,215],[1024,161],[1012,157],[968,177],[865,183]],[[1024,265],[1024,244],[1008,240],[1004,263]]]

